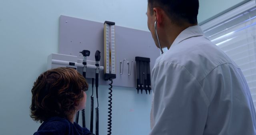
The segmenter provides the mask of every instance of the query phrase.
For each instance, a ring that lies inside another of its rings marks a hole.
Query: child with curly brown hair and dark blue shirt
[[[32,119],[42,125],[34,135],[93,135],[74,122],[85,108],[88,84],[75,69],[60,67],[42,73],[34,82]]]

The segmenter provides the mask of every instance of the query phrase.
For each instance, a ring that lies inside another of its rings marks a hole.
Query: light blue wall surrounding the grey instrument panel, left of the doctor
[[[60,15],[148,30],[146,10],[146,0],[0,0],[0,134],[31,135],[40,126],[29,116],[30,91],[47,56],[58,52]],[[107,88],[100,86],[101,135],[107,130]],[[148,134],[150,100],[114,87],[112,135]]]

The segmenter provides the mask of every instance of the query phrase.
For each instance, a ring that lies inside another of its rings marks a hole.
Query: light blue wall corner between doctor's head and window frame
[[[244,1],[248,0],[199,0],[198,22],[201,23]]]

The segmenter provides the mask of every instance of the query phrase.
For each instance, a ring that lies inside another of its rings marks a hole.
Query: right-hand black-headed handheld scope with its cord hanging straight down
[[[95,133],[99,135],[99,101],[98,101],[98,86],[99,86],[99,67],[100,67],[100,51],[96,51],[95,53],[95,61],[96,61],[96,76],[95,76],[95,86],[96,86],[96,98],[97,98],[97,107],[96,107],[96,127]]]

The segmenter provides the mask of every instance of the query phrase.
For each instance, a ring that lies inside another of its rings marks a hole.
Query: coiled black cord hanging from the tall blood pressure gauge
[[[111,128],[112,128],[112,83],[113,83],[113,80],[112,79],[110,79],[110,81],[111,81],[111,83],[110,84],[108,84],[108,85],[110,85],[110,88],[109,88],[109,90],[110,90],[110,92],[108,93],[110,96],[108,97],[109,98],[109,100],[108,100],[108,135],[111,135]]]

